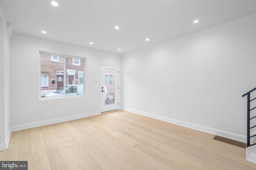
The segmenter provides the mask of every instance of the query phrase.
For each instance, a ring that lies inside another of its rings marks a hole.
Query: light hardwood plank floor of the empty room
[[[29,170],[256,170],[214,135],[126,111],[12,132],[0,160]]]

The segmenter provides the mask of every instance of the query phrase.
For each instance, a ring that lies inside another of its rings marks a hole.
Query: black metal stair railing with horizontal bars
[[[256,143],[250,144],[250,139],[251,139],[252,137],[255,137],[255,136],[256,136],[256,135],[250,136],[250,130],[251,130],[252,128],[256,127],[256,125],[250,127],[250,126],[251,126],[251,125],[250,125],[250,121],[251,121],[252,119],[256,118],[256,116],[254,116],[254,117],[252,117],[252,118],[251,118],[251,116],[250,116],[250,111],[252,111],[253,109],[256,108],[256,107],[254,107],[254,108],[251,109],[251,106],[250,106],[250,102],[252,102],[253,100],[256,99],[256,98],[254,98],[254,99],[251,100],[251,93],[252,93],[254,90],[256,90],[256,88],[250,90],[249,92],[247,92],[246,94],[244,94],[244,95],[242,96],[242,97],[247,96],[247,147],[250,147],[250,146],[252,146],[252,145],[256,145]]]

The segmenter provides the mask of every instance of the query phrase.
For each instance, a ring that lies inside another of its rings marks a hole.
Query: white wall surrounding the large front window
[[[14,33],[11,49],[11,126],[18,130],[100,113],[100,63],[121,64],[113,53]],[[39,51],[86,57],[87,96],[39,100]],[[40,112],[44,117],[39,117]]]

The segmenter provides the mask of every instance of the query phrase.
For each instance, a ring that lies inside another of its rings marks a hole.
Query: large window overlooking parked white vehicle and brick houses
[[[40,52],[41,99],[86,94],[84,92],[85,60],[82,57]]]

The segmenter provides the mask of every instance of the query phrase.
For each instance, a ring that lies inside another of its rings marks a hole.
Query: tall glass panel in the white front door
[[[105,105],[115,104],[115,69],[105,68]]]

